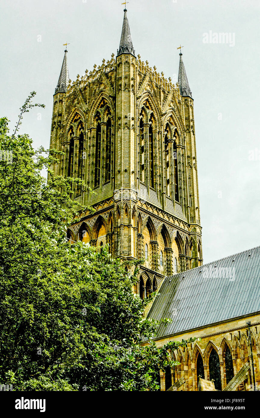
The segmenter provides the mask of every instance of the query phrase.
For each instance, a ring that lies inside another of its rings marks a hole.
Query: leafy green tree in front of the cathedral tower
[[[76,216],[71,182],[79,179],[53,175],[56,150],[44,156],[28,135],[9,135],[5,117],[0,150],[13,153],[12,162],[0,161],[0,383],[14,390],[158,390],[158,370],[176,364],[168,354],[187,341],[157,348],[151,340],[158,323],[142,316],[150,299],[132,292],[140,261],[128,276],[107,247],[67,242]]]

